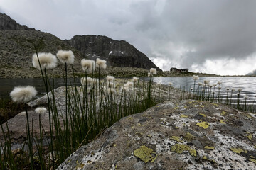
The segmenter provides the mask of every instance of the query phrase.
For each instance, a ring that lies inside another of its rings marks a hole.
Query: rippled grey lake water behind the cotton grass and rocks
[[[148,79],[141,78],[141,79]],[[226,88],[234,88],[237,93],[239,88],[242,89],[241,97],[247,94],[251,98],[255,98],[256,96],[256,77],[200,77],[199,80],[196,81],[196,85],[198,82],[203,82],[205,79],[210,80],[210,84],[216,84],[217,81],[222,81],[222,91],[226,91]],[[172,83],[172,86],[176,88],[185,87],[186,90],[193,88],[193,79],[192,77],[155,77],[154,82],[159,84],[169,84]],[[76,82],[80,85],[79,79]],[[55,88],[59,86],[64,86],[63,79],[54,79]],[[9,93],[14,89],[15,86],[35,86],[38,91],[37,96],[43,96],[45,94],[45,87],[43,85],[43,79],[0,79],[0,97],[1,98],[9,98]]]

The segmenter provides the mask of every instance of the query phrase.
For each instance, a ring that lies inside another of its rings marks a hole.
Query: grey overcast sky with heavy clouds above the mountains
[[[0,12],[60,39],[126,40],[164,70],[256,69],[255,0],[0,0]]]

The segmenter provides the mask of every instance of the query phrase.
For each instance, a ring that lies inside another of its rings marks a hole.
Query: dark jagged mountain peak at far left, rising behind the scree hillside
[[[28,28],[27,26],[16,23],[5,13],[0,13],[0,30],[36,30],[35,28]]]

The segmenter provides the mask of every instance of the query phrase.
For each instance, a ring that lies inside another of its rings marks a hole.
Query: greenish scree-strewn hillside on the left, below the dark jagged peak
[[[80,71],[80,60],[85,57],[54,35],[36,30],[0,30],[0,42],[0,78],[41,77],[31,62],[34,45],[38,47],[38,52],[53,54],[58,50],[73,50],[76,72]],[[61,77],[60,68],[61,64],[49,72],[50,76]]]

